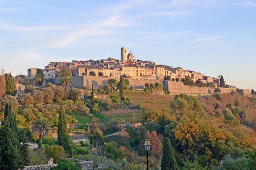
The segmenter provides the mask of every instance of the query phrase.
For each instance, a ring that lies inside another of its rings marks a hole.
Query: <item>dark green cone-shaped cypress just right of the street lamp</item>
[[[164,138],[163,146],[164,147],[163,147],[161,169],[162,170],[167,170],[167,169],[178,170],[177,162],[174,158],[172,145],[169,138],[166,138],[166,137]]]

